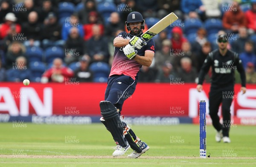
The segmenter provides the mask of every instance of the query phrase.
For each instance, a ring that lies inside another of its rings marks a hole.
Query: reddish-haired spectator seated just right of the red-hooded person
[[[202,49],[202,46],[204,45],[204,43],[207,42],[207,32],[204,28],[200,28],[198,29],[198,32],[197,32],[197,37],[195,38],[195,41],[192,42],[192,52],[198,54],[201,49]]]

